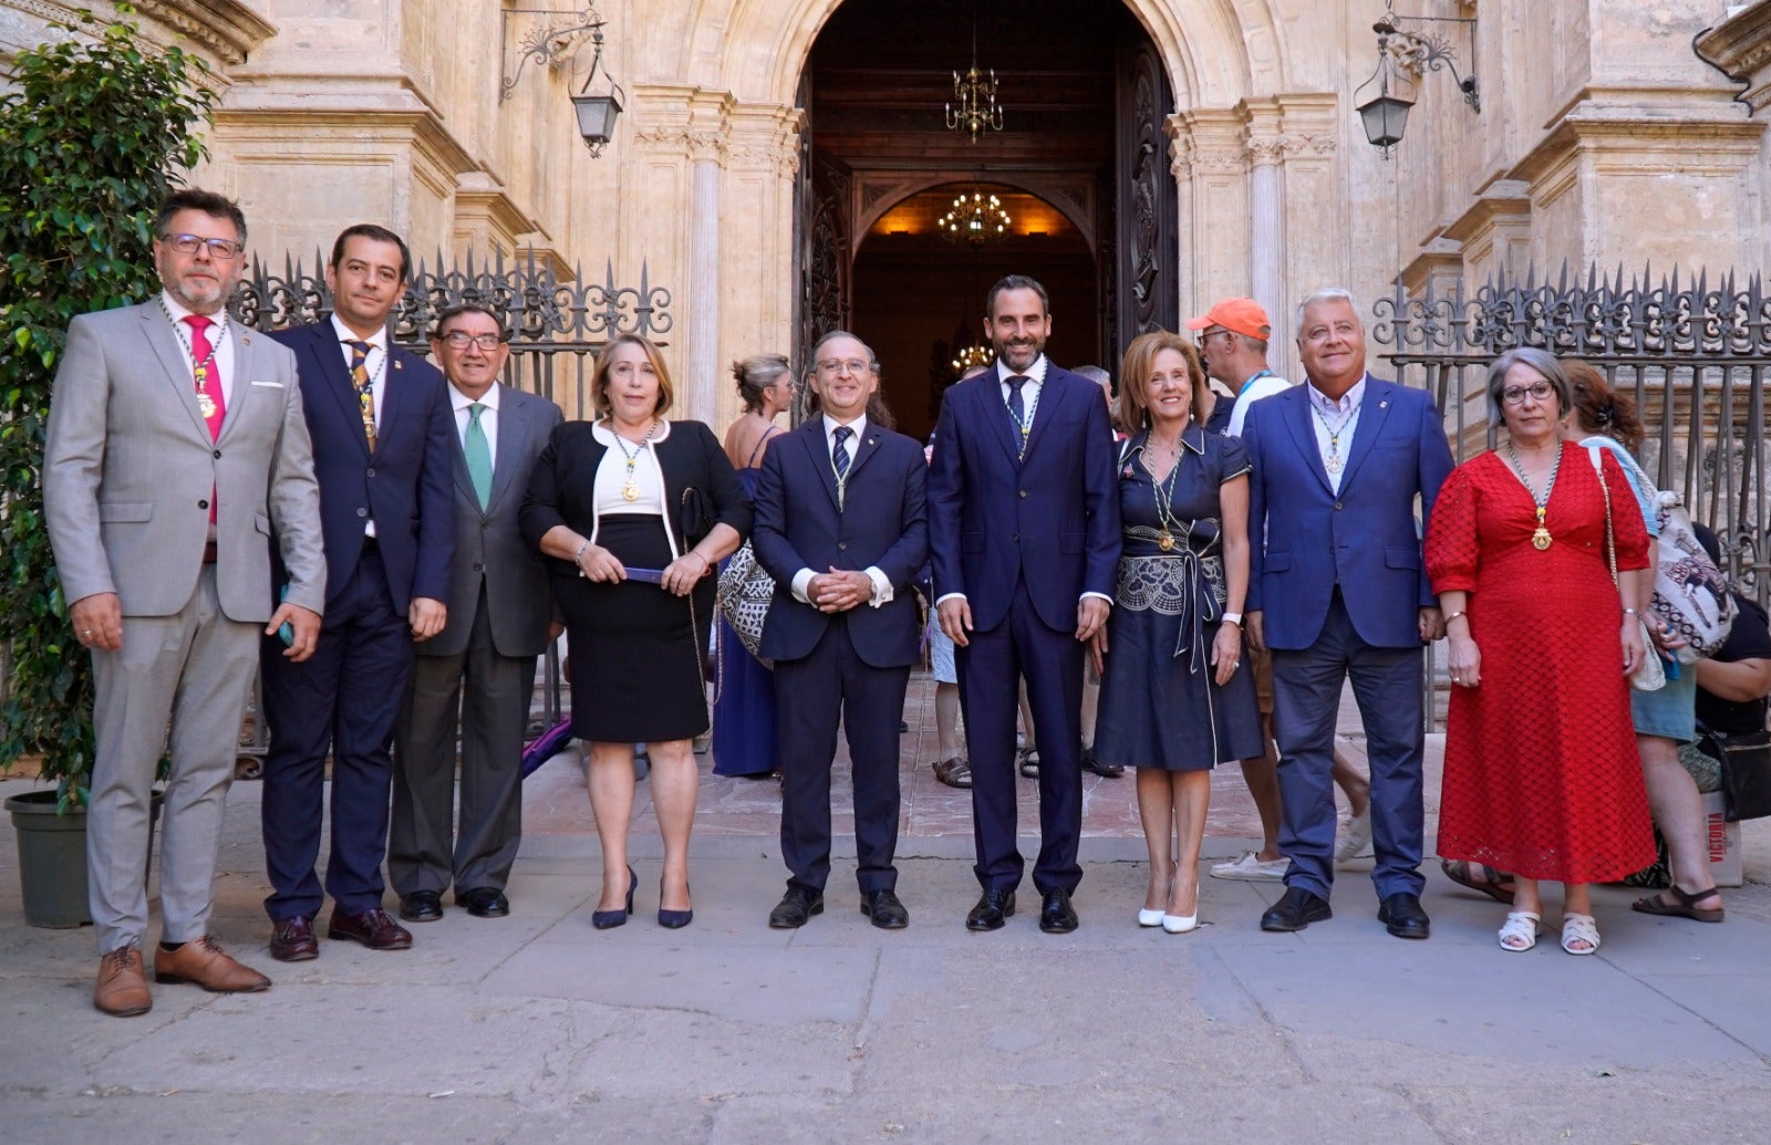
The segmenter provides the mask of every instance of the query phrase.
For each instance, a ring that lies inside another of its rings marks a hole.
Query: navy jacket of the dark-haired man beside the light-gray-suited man
[[[459,446],[443,373],[416,354],[390,347],[372,455],[333,324],[315,322],[271,336],[296,352],[301,375],[301,405],[321,483],[328,603],[351,582],[370,517],[393,605],[404,614],[413,596],[448,600]]]

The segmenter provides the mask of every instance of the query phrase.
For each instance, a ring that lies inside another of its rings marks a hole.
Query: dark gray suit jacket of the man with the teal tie
[[[480,508],[468,476],[468,458],[455,439],[455,570],[450,575],[448,625],[416,646],[420,657],[453,657],[468,648],[485,584],[487,621],[501,657],[538,657],[547,649],[553,589],[538,550],[522,543],[517,511],[530,487],[535,458],[560,425],[560,407],[547,398],[503,386],[498,396],[498,450],[492,462],[492,503]]]

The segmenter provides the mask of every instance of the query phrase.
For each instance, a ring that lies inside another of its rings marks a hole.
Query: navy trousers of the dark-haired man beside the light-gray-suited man
[[[266,637],[259,706],[271,727],[264,757],[264,867],[273,920],[313,917],[324,895],[315,874],[326,812],[326,754],[333,757],[331,858],[326,894],[356,915],[381,906],[393,786],[393,724],[413,669],[413,634],[393,609],[381,554],[365,547],[344,591],[326,603],[319,648],[303,664]]]

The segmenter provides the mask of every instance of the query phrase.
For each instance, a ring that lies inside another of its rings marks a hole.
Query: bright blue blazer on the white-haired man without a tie
[[[1241,441],[1254,464],[1247,611],[1263,614],[1266,644],[1314,644],[1339,582],[1362,641],[1419,646],[1419,611],[1436,603],[1420,536],[1452,469],[1433,398],[1365,375],[1339,496],[1316,448],[1307,384],[1250,405]]]

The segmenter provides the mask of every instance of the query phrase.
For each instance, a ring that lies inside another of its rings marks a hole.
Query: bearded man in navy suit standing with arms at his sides
[[[940,407],[928,533],[940,628],[958,648],[972,765],[972,867],[983,895],[965,918],[995,931],[1015,913],[1015,699],[1025,678],[1040,742],[1040,929],[1077,929],[1082,881],[1082,648],[1107,621],[1119,572],[1119,483],[1094,382],[1047,361],[1050,299],[1009,274],[985,299],[995,366]]]

